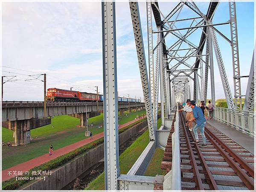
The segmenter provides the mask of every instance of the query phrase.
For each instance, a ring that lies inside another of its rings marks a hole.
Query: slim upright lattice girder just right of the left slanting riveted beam
[[[148,26],[148,67],[149,67],[149,84],[151,93],[151,103],[153,103],[154,113],[154,58],[153,58],[153,31],[152,31],[152,9],[151,2],[147,2],[147,26]],[[154,116],[155,119],[155,116]]]

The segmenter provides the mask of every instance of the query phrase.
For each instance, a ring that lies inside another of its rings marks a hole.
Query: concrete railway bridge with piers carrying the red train
[[[2,102],[2,126],[14,131],[14,145],[30,143],[30,130],[51,124],[48,117],[70,115],[80,119],[86,127],[87,119],[103,111],[103,102],[47,102],[44,116],[44,102]],[[120,114],[123,111],[145,108],[144,103],[118,102]]]

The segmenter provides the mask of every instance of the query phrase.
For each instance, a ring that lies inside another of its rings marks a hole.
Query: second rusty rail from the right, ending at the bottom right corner
[[[254,189],[253,180],[251,180],[250,177],[245,172],[243,172],[243,170],[236,164],[236,162],[229,156],[229,154],[225,152],[224,149],[221,148],[221,146],[218,145],[218,143],[208,134],[207,131],[205,131],[205,136],[212,143],[212,145],[215,146],[218,152],[224,157],[224,160],[227,161],[229,166],[240,177],[240,179],[248,187],[248,189],[253,190]]]

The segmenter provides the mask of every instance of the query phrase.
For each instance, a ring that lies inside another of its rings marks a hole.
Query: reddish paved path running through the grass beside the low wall
[[[134,122],[136,122],[138,120],[140,120],[140,119],[136,119],[136,120],[134,119],[134,120],[132,120],[130,122],[127,122],[125,124],[119,125],[119,129],[121,129],[121,128],[127,126],[127,125],[130,125],[131,123],[134,123]],[[28,161],[26,161],[24,163],[20,163],[20,164],[18,164],[16,166],[10,167],[9,169],[5,169],[5,170],[2,171],[2,181],[8,180],[9,178],[13,177],[13,175],[8,175],[8,172],[22,171],[24,173],[24,172],[28,171],[29,169],[34,168],[35,166],[39,166],[39,165],[41,165],[43,163],[46,163],[49,160],[55,159],[56,157],[64,155],[64,154],[66,154],[66,153],[68,153],[70,151],[73,151],[76,148],[79,148],[81,146],[84,146],[84,145],[86,145],[88,143],[91,143],[91,142],[93,142],[93,141],[95,141],[95,140],[97,140],[97,139],[99,139],[99,138],[101,138],[103,136],[104,136],[104,132],[96,134],[96,135],[93,135],[93,139],[92,140],[90,140],[90,137],[89,137],[87,139],[81,140],[79,142],[73,143],[71,145],[67,145],[66,147],[62,147],[62,148],[59,148],[59,149],[53,151],[53,155],[52,156],[49,156],[49,153],[47,153],[47,154],[44,154],[44,155],[42,155],[40,157],[36,157],[36,158],[34,158],[32,160],[28,160]]]

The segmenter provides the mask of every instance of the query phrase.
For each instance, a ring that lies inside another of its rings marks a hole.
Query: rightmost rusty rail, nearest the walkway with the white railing
[[[216,137],[208,128],[205,127],[205,130],[254,178],[253,168],[242,157],[236,154],[236,152],[234,152],[226,143]]]

